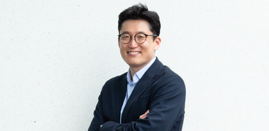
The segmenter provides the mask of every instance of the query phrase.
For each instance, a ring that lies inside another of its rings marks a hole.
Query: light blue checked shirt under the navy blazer
[[[137,82],[141,79],[141,77],[145,74],[145,72],[149,69],[149,67],[152,65],[152,63],[155,61],[156,56],[154,56],[154,58],[146,65],[144,66],[142,69],[140,69],[138,72],[136,72],[133,76],[133,80],[132,80],[132,76],[130,73],[130,68],[127,72],[127,91],[126,91],[126,96],[124,99],[124,102],[122,104],[122,108],[120,111],[120,123],[121,123],[121,116],[122,116],[122,112],[123,109],[131,95],[131,93],[133,92],[134,87],[136,86]]]

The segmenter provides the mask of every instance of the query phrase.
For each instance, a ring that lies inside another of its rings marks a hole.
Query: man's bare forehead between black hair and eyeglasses
[[[150,34],[150,24],[145,20],[126,20],[122,23],[120,34],[128,33],[135,35],[137,33]]]

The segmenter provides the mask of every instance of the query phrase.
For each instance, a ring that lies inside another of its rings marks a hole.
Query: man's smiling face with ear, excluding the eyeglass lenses
[[[141,44],[135,41],[134,35],[138,33],[156,35],[152,34],[149,27],[150,24],[144,20],[126,20],[122,23],[120,34],[127,33],[131,35],[132,39],[129,43],[124,44],[118,37],[119,49],[122,59],[130,67],[143,68],[146,66],[154,58],[154,51],[160,46],[160,37],[153,41],[153,36],[147,36],[146,41]]]

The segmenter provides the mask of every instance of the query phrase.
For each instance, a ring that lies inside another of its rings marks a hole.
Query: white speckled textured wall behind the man
[[[0,1],[0,130],[85,131],[127,72],[118,15],[139,1]],[[184,131],[269,130],[269,1],[143,1],[186,85]]]

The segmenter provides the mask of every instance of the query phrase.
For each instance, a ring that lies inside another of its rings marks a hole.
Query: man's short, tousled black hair
[[[122,11],[119,14],[119,21],[118,21],[119,31],[122,27],[122,23],[129,19],[146,20],[147,22],[150,23],[150,31],[153,33],[153,35],[157,36],[160,35],[161,23],[159,15],[154,11],[149,11],[147,5],[139,3]],[[156,36],[153,36],[153,41],[156,38],[157,38]]]

